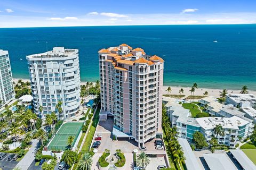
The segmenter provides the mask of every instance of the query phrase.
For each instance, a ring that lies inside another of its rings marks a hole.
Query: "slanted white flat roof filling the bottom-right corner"
[[[230,149],[231,154],[236,158],[238,163],[244,168],[244,170],[255,170],[256,166],[253,164],[242,150]]]

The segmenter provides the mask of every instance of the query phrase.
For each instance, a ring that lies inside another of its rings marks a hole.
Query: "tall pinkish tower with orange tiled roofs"
[[[164,61],[122,44],[99,51],[101,120],[114,116],[113,134],[143,146],[161,137]]]

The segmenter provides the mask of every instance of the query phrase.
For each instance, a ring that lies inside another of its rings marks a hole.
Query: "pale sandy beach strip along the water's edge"
[[[17,78],[13,78],[13,81],[15,83],[18,82],[18,80],[20,79],[17,79]],[[21,79],[22,81],[26,82],[30,82],[29,79]],[[93,82],[95,83],[95,82]],[[86,82],[83,82],[81,81],[81,85],[85,85]],[[163,95],[166,95],[168,94],[168,92],[166,91],[166,89],[168,88],[169,86],[163,86]],[[180,95],[179,94],[179,90],[182,88],[184,90],[183,94],[181,95],[185,95],[185,96],[189,96],[191,95],[191,93],[189,92],[189,90],[191,89],[190,87],[180,87],[180,86],[170,86],[172,91],[169,92],[169,95]],[[220,94],[220,91],[222,91],[223,89],[213,89],[213,88],[198,88],[198,89],[195,89],[195,96],[203,96],[204,92],[207,91],[208,92],[208,96],[214,96],[214,97],[219,97],[219,94]],[[234,89],[227,89],[228,90],[228,94],[239,94],[239,92],[241,90],[234,90]],[[249,91],[249,94],[253,94],[253,95],[256,95],[256,91],[255,90],[248,90]]]

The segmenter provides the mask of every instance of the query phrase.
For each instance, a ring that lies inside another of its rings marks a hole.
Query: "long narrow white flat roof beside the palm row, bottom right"
[[[194,169],[202,169],[199,166],[199,163],[197,162],[197,159],[194,155],[193,150],[191,149],[188,141],[186,139],[178,138],[178,141],[180,143],[180,146],[182,147],[182,150],[184,152],[184,155],[186,157],[185,163],[188,170],[194,170]]]

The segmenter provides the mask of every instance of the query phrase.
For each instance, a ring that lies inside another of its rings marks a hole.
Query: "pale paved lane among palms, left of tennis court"
[[[16,167],[20,167],[21,170],[27,170],[28,167],[32,162],[34,162],[35,159],[35,152],[37,151],[39,147],[39,141],[38,139],[32,140],[32,145],[27,154],[23,157],[23,159],[20,160],[20,162],[17,164]]]

